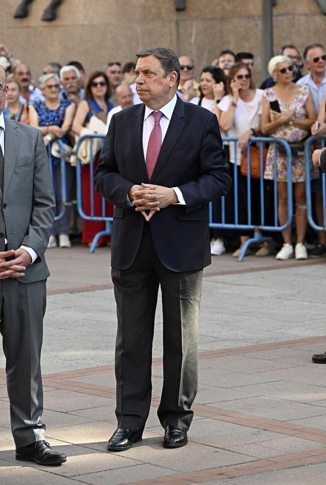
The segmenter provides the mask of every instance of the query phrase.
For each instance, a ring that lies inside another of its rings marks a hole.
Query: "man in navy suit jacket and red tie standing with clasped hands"
[[[186,445],[197,391],[202,272],[211,264],[207,204],[228,193],[216,116],[176,95],[180,64],[170,49],[136,54],[144,104],[114,114],[95,186],[115,205],[112,281],[118,330],[118,429],[110,451],[142,439],[151,402],[151,359],[159,286],[163,303],[163,446]]]

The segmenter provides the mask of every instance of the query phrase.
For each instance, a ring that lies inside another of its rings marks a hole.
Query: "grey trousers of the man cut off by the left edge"
[[[40,365],[45,308],[46,280],[0,280],[0,333],[16,447],[45,438]]]

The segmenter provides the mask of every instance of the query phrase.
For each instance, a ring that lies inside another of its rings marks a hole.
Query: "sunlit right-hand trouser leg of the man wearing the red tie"
[[[189,429],[198,384],[198,317],[202,270],[157,268],[163,303],[163,390],[157,414],[167,425]]]

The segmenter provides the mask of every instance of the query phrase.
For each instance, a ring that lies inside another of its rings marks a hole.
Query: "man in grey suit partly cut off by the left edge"
[[[41,132],[3,117],[0,66],[0,333],[16,459],[63,463],[45,441],[41,347],[49,270],[44,253],[55,202]]]

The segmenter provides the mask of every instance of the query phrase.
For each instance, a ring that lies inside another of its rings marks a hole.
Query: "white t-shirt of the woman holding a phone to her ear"
[[[233,126],[228,130],[228,136],[241,136],[250,128],[255,128],[261,123],[262,89],[256,89],[252,101],[244,102],[240,97],[234,111]],[[231,106],[232,96],[227,95],[218,103],[218,109],[227,112]],[[230,162],[235,163],[234,142],[229,142]],[[237,148],[237,165],[241,165],[241,150]]]

